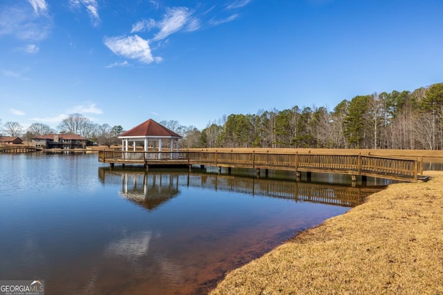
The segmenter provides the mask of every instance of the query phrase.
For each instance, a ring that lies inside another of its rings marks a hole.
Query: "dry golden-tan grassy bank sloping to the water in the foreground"
[[[235,269],[211,294],[443,294],[443,172],[425,174]]]

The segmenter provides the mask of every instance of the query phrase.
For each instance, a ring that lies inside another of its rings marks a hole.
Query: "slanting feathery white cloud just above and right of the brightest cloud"
[[[163,20],[158,23],[160,32],[154,36],[153,40],[158,41],[165,39],[174,32],[179,31],[188,23],[190,15],[192,15],[192,12],[186,7],[168,8]]]

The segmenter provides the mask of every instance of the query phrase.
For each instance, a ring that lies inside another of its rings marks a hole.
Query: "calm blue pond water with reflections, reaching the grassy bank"
[[[370,193],[202,172],[0,155],[0,279],[44,279],[47,294],[204,294]]]

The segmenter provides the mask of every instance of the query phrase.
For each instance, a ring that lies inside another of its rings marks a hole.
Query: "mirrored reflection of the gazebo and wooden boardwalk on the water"
[[[296,202],[318,202],[354,207],[385,186],[352,187],[343,184],[316,184],[232,175],[188,173],[186,171],[130,171],[100,167],[98,175],[103,184],[121,184],[120,195],[154,210],[179,194],[179,188],[197,187],[215,191],[233,191],[252,196],[291,199]]]

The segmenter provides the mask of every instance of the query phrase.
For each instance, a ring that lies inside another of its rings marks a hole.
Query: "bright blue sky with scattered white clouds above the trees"
[[[1,0],[0,120],[124,129],[443,82],[442,0]]]

